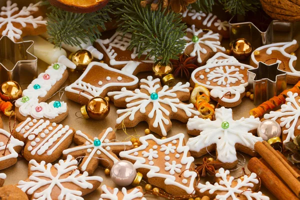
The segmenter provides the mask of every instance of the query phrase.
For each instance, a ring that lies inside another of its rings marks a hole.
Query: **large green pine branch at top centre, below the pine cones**
[[[118,31],[132,34],[129,49],[136,48],[138,57],[149,50],[146,57],[161,59],[168,63],[169,59],[177,59],[185,41],[186,26],[181,23],[181,15],[173,11],[151,11],[150,6],[140,6],[140,0],[112,0],[117,6],[115,14],[119,18]],[[160,8],[158,9],[160,10]]]

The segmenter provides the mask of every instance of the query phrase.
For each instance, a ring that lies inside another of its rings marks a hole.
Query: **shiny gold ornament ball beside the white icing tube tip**
[[[77,50],[71,54],[71,61],[76,64],[77,71],[84,71],[87,65],[92,62],[92,54],[85,49]]]

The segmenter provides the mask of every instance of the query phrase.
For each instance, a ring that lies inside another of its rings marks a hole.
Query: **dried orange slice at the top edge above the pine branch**
[[[94,12],[104,7],[109,0],[49,0],[51,5],[70,12]]]

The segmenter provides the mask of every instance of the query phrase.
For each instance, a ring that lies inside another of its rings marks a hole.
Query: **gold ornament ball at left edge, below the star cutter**
[[[13,101],[22,96],[22,88],[16,81],[9,80],[1,84],[0,97],[5,101]]]

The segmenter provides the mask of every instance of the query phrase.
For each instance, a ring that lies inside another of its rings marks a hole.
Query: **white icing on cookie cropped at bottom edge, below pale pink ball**
[[[119,191],[118,188],[113,188],[113,191],[110,192],[107,189],[107,186],[104,184],[101,187],[103,193],[100,196],[99,200],[103,200],[103,199],[109,199],[109,200],[117,200],[119,199],[117,194]],[[121,192],[123,194],[123,198],[122,200],[133,200],[135,198],[140,198],[141,200],[146,200],[145,197],[143,197],[143,193],[137,188],[135,187],[132,191],[130,191],[129,193],[127,192],[127,189],[125,187],[122,187]]]

